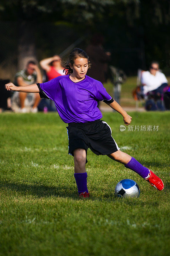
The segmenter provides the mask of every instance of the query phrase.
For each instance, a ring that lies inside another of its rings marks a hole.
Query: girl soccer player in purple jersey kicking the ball
[[[102,114],[97,101],[106,102],[123,116],[129,125],[132,117],[112,99],[103,85],[86,76],[90,67],[85,51],[75,48],[70,52],[69,60],[64,65],[66,76],[56,77],[46,83],[27,86],[5,84],[7,90],[19,92],[39,92],[41,98],[54,100],[59,116],[68,123],[69,154],[74,156],[74,177],[80,197],[89,197],[87,189],[87,149],[96,155],[107,155],[111,159],[124,164],[147,180],[154,188],[162,190],[164,184],[151,170],[140,164],[135,158],[122,152],[111,136],[110,126],[101,121]]]

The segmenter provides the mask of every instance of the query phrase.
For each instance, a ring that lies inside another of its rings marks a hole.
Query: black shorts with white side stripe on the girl
[[[110,126],[102,121],[96,120],[87,123],[69,123],[67,128],[69,139],[69,154],[74,156],[76,148],[90,148],[96,155],[109,155],[120,148],[112,138]],[[87,163],[87,160],[86,160]]]

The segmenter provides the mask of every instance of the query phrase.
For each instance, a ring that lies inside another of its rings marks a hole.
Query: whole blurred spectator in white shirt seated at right
[[[165,87],[167,87],[167,79],[166,76],[159,71],[159,63],[157,61],[152,61],[149,71],[143,71],[141,74],[141,84],[142,88],[141,91],[143,93],[143,96],[145,99],[149,100],[160,100],[163,98],[163,93],[165,90]],[[153,101],[154,104],[154,101]],[[147,105],[147,103],[146,103]],[[151,102],[152,105],[152,102]],[[158,104],[157,104],[158,105]],[[159,107],[158,107],[159,106]],[[148,107],[146,106],[147,110],[164,110],[163,105],[159,102],[159,105],[155,107],[153,106],[153,109],[150,109],[150,104],[148,104]]]

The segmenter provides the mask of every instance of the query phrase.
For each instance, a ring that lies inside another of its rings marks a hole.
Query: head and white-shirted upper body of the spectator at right
[[[149,71],[143,71],[141,75],[141,84],[143,93],[153,92],[155,96],[160,97],[164,87],[167,86],[166,76],[159,71],[159,63],[152,61]]]

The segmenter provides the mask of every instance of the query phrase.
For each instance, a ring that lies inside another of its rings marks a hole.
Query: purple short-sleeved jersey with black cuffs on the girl
[[[97,101],[113,102],[103,84],[90,76],[80,82],[71,81],[69,75],[58,76],[46,83],[37,84],[40,97],[54,100],[64,123],[85,123],[98,120],[102,114]]]

